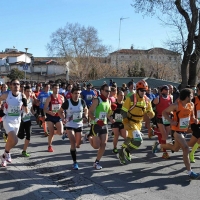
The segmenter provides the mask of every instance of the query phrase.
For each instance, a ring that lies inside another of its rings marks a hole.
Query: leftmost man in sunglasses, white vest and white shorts
[[[25,96],[19,92],[20,82],[18,79],[11,81],[11,91],[0,96],[0,101],[6,100],[4,106],[3,126],[8,134],[8,141],[5,145],[5,152],[1,156],[1,166],[6,167],[7,162],[12,161],[10,151],[18,143],[17,133],[21,122],[22,106],[28,113],[27,100]]]

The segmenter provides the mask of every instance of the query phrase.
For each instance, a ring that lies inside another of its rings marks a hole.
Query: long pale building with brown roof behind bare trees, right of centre
[[[162,74],[162,78],[178,82],[180,78],[181,54],[170,51],[164,48],[151,48],[147,50],[134,49],[121,49],[110,53],[110,62],[113,67],[120,70],[121,66],[132,68],[137,65],[143,67],[147,76],[153,74]],[[168,71],[168,73],[166,73]],[[172,73],[173,76],[172,76]]]

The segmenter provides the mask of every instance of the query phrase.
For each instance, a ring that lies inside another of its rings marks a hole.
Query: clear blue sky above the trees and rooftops
[[[170,30],[155,17],[143,17],[131,7],[132,0],[1,0],[0,51],[15,46],[35,57],[47,56],[50,35],[68,23],[93,26],[104,45],[120,48],[164,47]]]

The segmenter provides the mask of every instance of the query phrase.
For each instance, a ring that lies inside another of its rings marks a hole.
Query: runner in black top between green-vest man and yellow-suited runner
[[[114,139],[113,139],[113,153],[117,154],[117,143],[119,136],[126,139],[127,133],[124,129],[124,125],[122,123],[122,115],[121,115],[121,108],[124,100],[124,92],[118,91],[117,92],[117,99],[116,99],[116,109],[114,110],[111,117],[108,117],[108,119],[112,122],[111,128],[114,133]],[[112,106],[112,105],[111,105]]]

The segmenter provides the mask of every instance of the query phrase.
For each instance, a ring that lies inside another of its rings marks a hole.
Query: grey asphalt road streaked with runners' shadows
[[[89,129],[86,127],[85,131]],[[72,170],[70,144],[56,135],[55,152],[47,152],[47,138],[33,121],[33,134],[28,152],[21,156],[23,141],[12,150],[12,164],[0,168],[0,200],[78,199],[78,200],[190,200],[199,199],[200,180],[189,181],[182,161],[182,152],[170,153],[170,160],[163,160],[162,153],[151,153],[156,138],[148,139],[143,128],[144,142],[132,154],[132,161],[121,165],[112,153],[112,137],[101,160],[102,170],[92,165],[96,150],[89,143],[77,149],[79,170]],[[170,139],[169,139],[170,140]],[[120,139],[118,147],[122,143]],[[0,149],[4,141],[0,135]],[[194,171],[200,172],[199,152]]]

